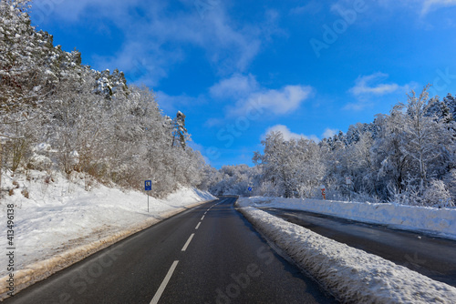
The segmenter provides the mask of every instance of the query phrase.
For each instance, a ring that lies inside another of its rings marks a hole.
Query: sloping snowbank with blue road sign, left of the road
[[[15,291],[185,208],[216,199],[207,192],[181,188],[165,199],[149,198],[148,212],[144,193],[101,185],[86,191],[85,177],[69,182],[59,174],[32,171],[28,177],[4,176],[3,182],[4,187],[15,188],[0,202],[3,215],[7,204],[15,205]],[[0,248],[7,247],[6,238],[1,238]],[[7,259],[0,255],[0,265],[7,265]],[[2,267],[0,277],[6,275]],[[5,278],[0,279],[3,293]]]

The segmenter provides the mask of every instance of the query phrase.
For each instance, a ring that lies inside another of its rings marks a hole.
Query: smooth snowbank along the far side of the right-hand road
[[[241,200],[253,207],[310,211],[456,239],[456,208],[426,208],[301,198],[254,197],[241,198]]]

